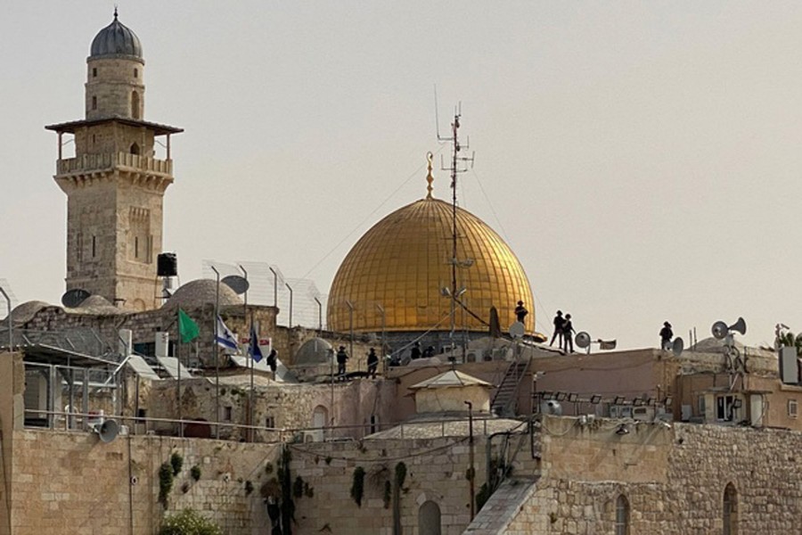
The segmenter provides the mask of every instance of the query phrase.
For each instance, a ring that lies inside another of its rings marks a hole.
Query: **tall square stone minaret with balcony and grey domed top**
[[[142,45],[116,9],[86,65],[86,119],[45,127],[59,135],[54,178],[67,193],[67,290],[122,309],[155,309],[163,199],[173,182],[170,135],[183,129],[143,119]],[[62,158],[65,134],[74,136],[75,158]],[[157,136],[167,138],[166,160],[154,158]]]

